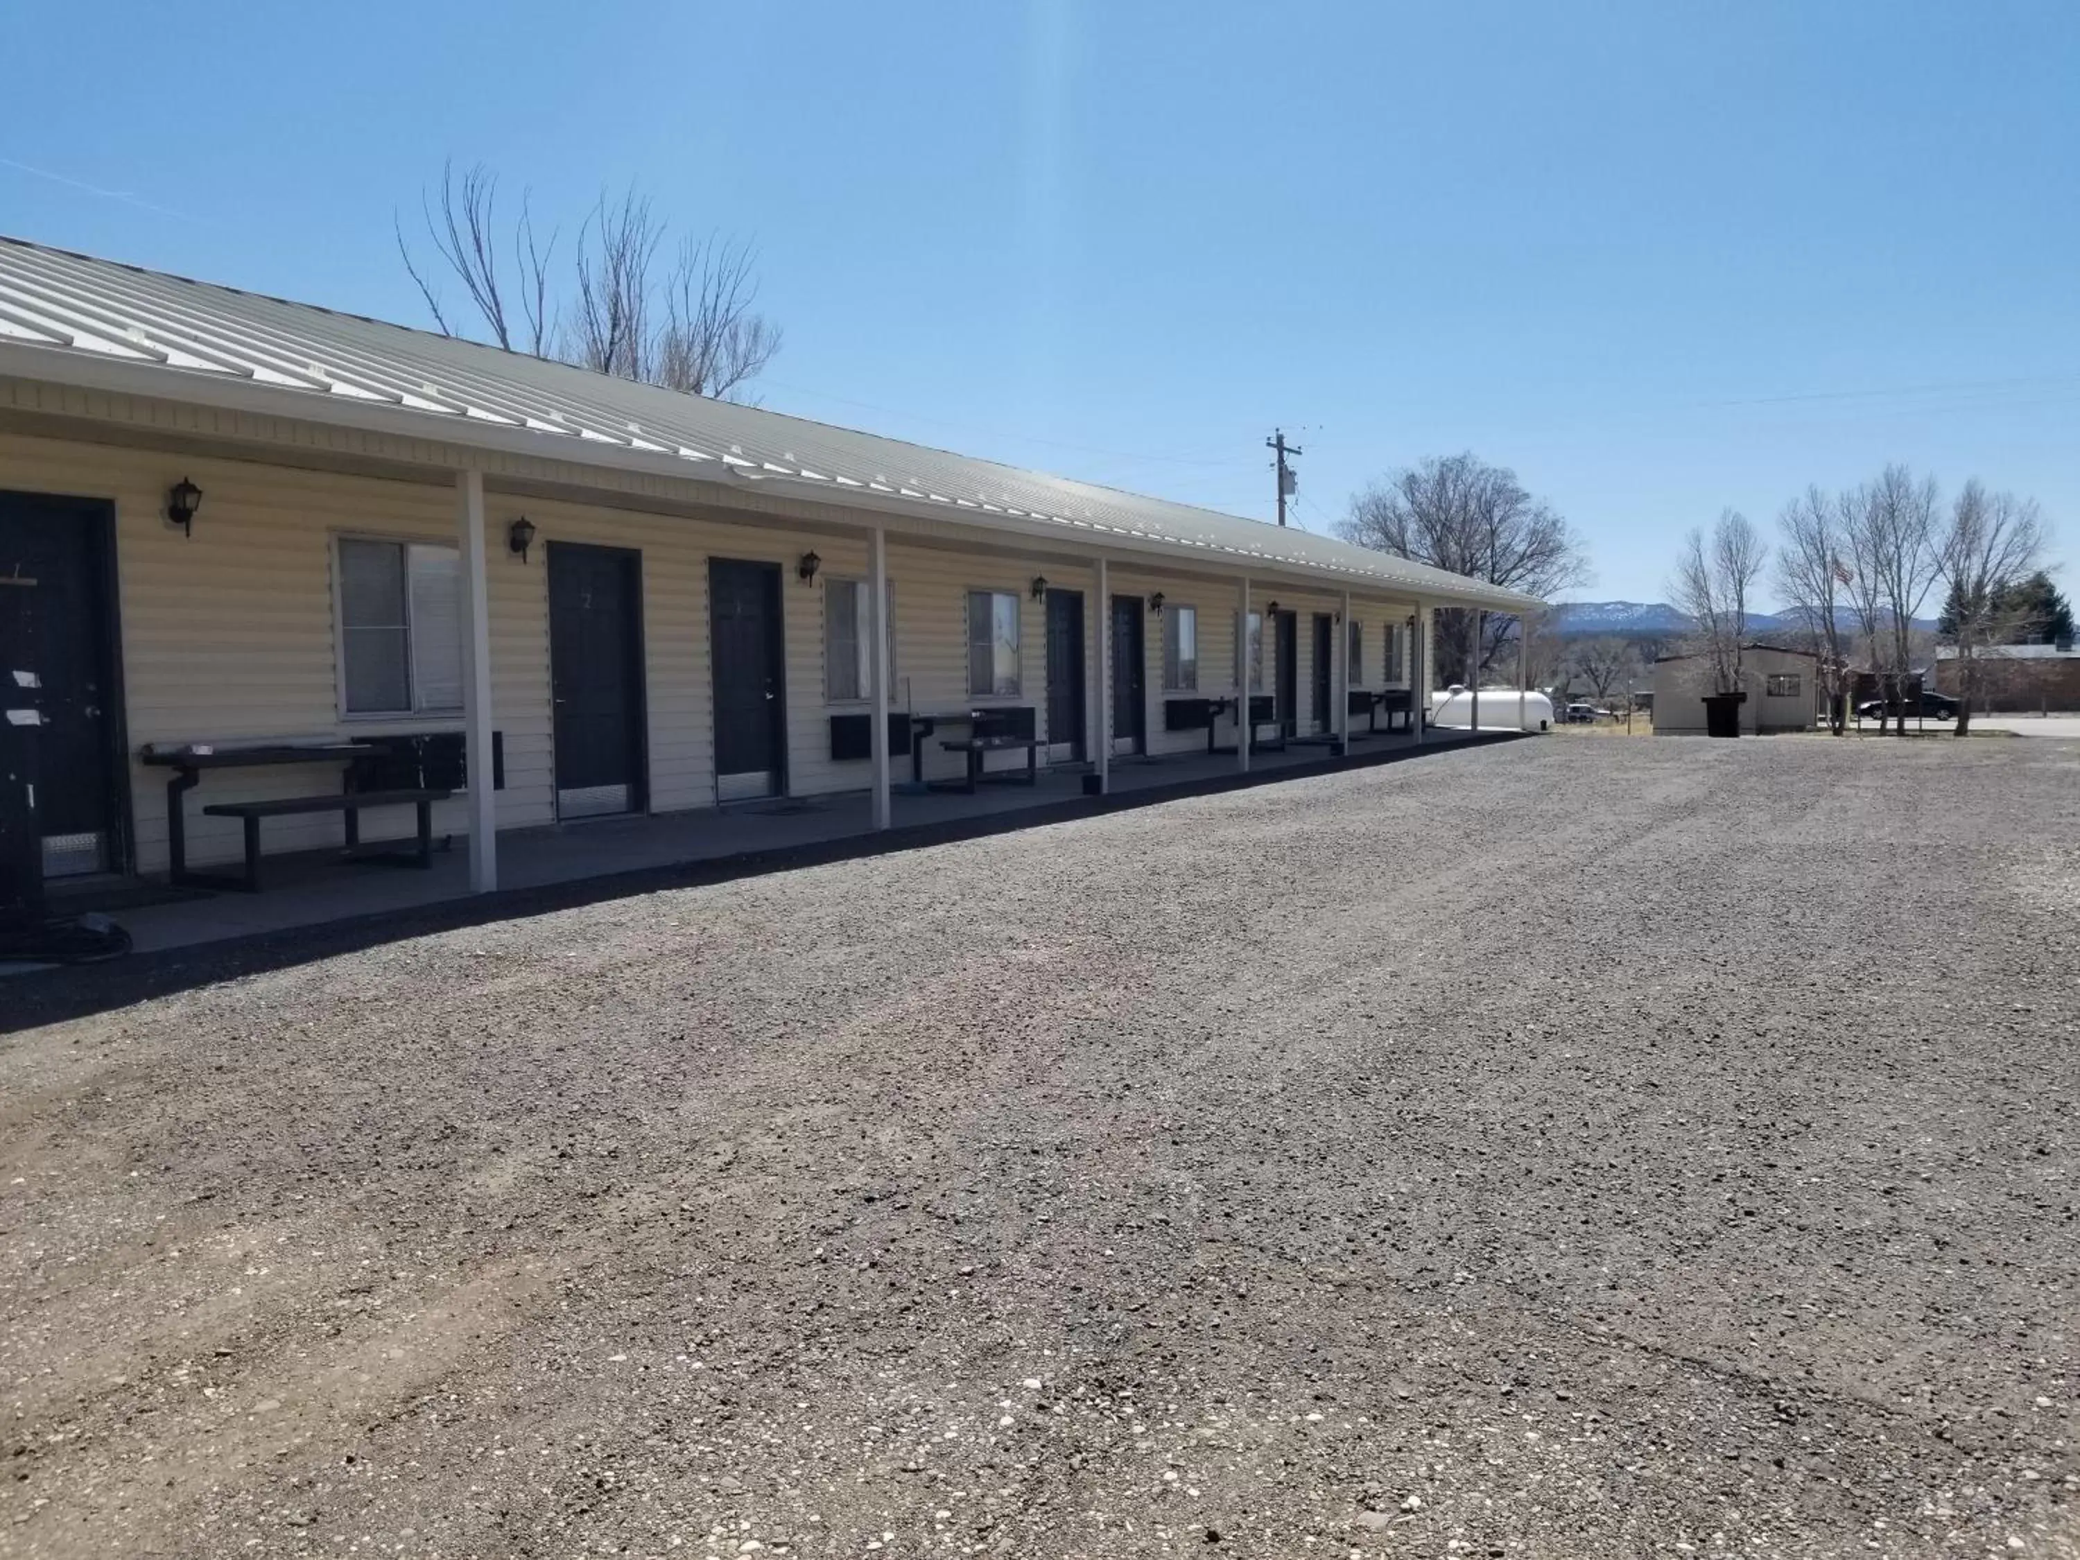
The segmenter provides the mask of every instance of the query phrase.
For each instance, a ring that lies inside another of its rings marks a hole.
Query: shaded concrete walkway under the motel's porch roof
[[[1468,732],[1462,730],[1431,730],[1425,747],[1450,747],[1466,738]],[[524,892],[695,863],[716,867],[740,863],[745,872],[776,869],[805,857],[830,859],[1028,824],[1050,824],[1119,805],[1392,761],[1416,751],[1414,743],[1402,734],[1364,736],[1358,732],[1346,759],[1329,757],[1327,747],[1256,753],[1250,759],[1248,780],[1238,774],[1231,751],[1225,755],[1115,759],[1113,792],[1107,799],[1084,797],[1084,768],[1067,765],[1042,770],[1034,786],[988,782],[973,797],[944,790],[899,792],[894,797],[894,828],[880,836],[872,828],[865,792],[510,830],[499,834],[499,888],[501,892]],[[847,844],[857,847],[857,851],[844,849]],[[202,892],[173,903],[116,909],[112,919],[131,934],[137,953],[156,953],[385,915],[468,896],[468,840],[456,836],[451,849],[435,855],[428,872],[343,863],[329,851],[266,857],[262,861],[262,892],[258,894]],[[85,905],[71,909],[79,907]]]

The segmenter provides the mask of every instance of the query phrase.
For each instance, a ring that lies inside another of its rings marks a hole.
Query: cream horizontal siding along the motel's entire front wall
[[[193,539],[162,518],[166,489],[181,476],[202,487]],[[123,626],[125,740],[135,755],[150,743],[322,738],[410,730],[460,730],[460,713],[341,713],[335,539],[341,535],[435,545],[456,543],[456,491],[449,480],[391,480],[154,449],[0,433],[0,489],[100,497],[114,503],[116,576]],[[641,499],[632,499],[641,501]],[[535,522],[530,557],[505,547],[508,524]],[[861,790],[865,761],[830,761],[830,713],[824,699],[824,580],[865,578],[863,539],[795,530],[765,516],[755,524],[720,518],[645,514],[564,499],[485,495],[493,726],[501,732],[505,788],[497,792],[499,828],[555,822],[553,728],[549,703],[547,547],[593,543],[626,547],[643,564],[643,647],[647,684],[649,807],[676,811],[716,805],[713,691],[709,674],[707,564],[711,557],[770,562],[780,574],[786,647],[788,792],[797,797]],[[822,557],[815,582],[797,576],[805,551]],[[1096,595],[1094,570],[1063,560],[1021,560],[1009,551],[957,551],[890,537],[896,678],[892,709],[946,711],[976,705],[1030,705],[1042,743],[1069,740],[1048,730],[1046,603],[1032,597],[1034,576],[1084,593],[1086,676],[1096,672],[1098,628],[1109,601]],[[1233,688],[1233,582],[1167,576],[1117,566],[1113,595],[1146,603],[1161,591],[1198,607],[1198,697]],[[967,693],[967,593],[1005,591],[1019,601],[1019,697],[973,699]],[[1300,614],[1298,697],[1302,730],[1312,716],[1312,612],[1335,612],[1340,597],[1302,591],[1252,591],[1263,612],[1271,599]],[[1367,668],[1377,674],[1379,634],[1406,607],[1360,605]],[[1142,614],[1146,730],[1150,753],[1204,751],[1202,730],[1163,728],[1161,620]],[[1275,688],[1275,645],[1267,643],[1267,688]],[[1094,688],[1109,701],[1109,688]],[[859,705],[849,705],[859,709]],[[1086,695],[1086,718],[1096,716]],[[907,755],[894,755],[907,778]],[[998,753],[990,768],[1021,768],[1021,753]],[[928,740],[928,774],[959,772],[959,759]],[[166,867],[168,772],[131,761],[135,865]],[[214,801],[248,801],[335,790],[339,763],[206,772],[189,792],[187,842],[196,865],[235,861],[239,822],[206,817]],[[376,811],[366,838],[395,838],[412,828],[408,811]],[[435,832],[462,834],[466,803],[435,809]],[[264,824],[268,853],[333,847],[337,815],[279,817]]]

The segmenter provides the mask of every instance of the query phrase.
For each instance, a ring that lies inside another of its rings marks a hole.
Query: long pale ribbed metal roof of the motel
[[[312,422],[399,431],[587,464],[659,466],[826,503],[930,514],[978,528],[1048,522],[1223,555],[1229,566],[1327,574],[1433,601],[1516,609],[1533,597],[1367,547],[1169,499],[682,395],[547,358],[401,324],[262,297],[0,235],[0,372],[96,383],[92,368],[141,370],[156,395],[212,399],[212,387],[308,397]],[[135,379],[137,374],[125,374]],[[416,428],[412,424],[418,424]],[[441,422],[445,428],[431,428]],[[1213,560],[1208,560],[1213,562]]]

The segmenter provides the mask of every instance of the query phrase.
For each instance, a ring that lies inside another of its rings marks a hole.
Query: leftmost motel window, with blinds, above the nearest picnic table
[[[341,537],[337,564],[343,713],[462,709],[462,555]]]

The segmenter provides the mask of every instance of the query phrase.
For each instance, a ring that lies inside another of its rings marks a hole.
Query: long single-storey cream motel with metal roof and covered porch
[[[1537,601],[0,239],[0,888],[162,940],[1452,740],[1446,605]]]

